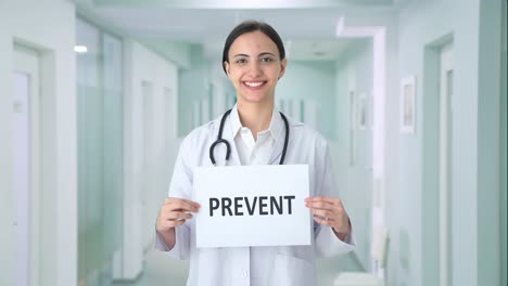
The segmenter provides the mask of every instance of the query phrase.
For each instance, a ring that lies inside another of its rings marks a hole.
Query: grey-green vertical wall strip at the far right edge
[[[506,1],[505,1],[506,2]],[[478,285],[499,285],[501,1],[480,1],[478,63]],[[506,78],[504,79],[506,80]],[[493,112],[493,110],[498,112]],[[506,105],[505,105],[506,110]],[[506,148],[505,148],[506,150]]]

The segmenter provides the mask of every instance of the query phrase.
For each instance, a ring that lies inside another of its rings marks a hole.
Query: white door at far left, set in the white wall
[[[12,72],[15,285],[38,282],[39,57],[15,46]]]

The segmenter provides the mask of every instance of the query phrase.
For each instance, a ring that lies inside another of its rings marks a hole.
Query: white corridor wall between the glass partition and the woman
[[[144,146],[142,82],[152,84],[149,101],[151,145]],[[125,41],[124,101],[124,245],[122,278],[136,278],[142,271],[143,248],[155,234],[155,218],[173,173],[177,143],[177,67],[131,40]],[[173,91],[167,104],[164,89]],[[170,109],[167,109],[169,105]],[[147,156],[147,157],[145,157]],[[144,165],[148,159],[148,165]],[[148,166],[148,168],[145,168]]]

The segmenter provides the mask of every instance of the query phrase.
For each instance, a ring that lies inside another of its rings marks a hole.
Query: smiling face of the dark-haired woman
[[[229,63],[224,65],[237,89],[237,101],[272,102],[287,64],[285,58],[280,61],[276,43],[262,31],[246,32],[233,41],[228,56]]]

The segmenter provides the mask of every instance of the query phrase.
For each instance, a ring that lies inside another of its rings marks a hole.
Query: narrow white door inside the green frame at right
[[[454,86],[453,44],[441,49],[440,66],[440,285],[452,285],[450,275],[450,194],[452,194],[452,96]]]

